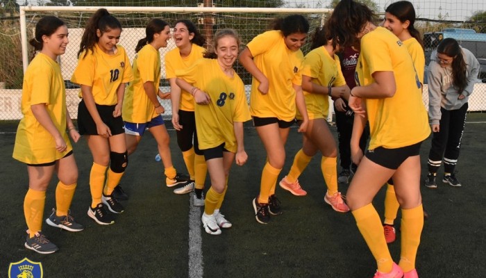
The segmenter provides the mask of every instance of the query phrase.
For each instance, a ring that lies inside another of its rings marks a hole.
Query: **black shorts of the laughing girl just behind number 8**
[[[179,110],[179,124],[183,126],[183,129],[176,131],[177,145],[183,152],[187,152],[192,148],[194,144],[194,152],[202,156],[204,153],[199,149],[196,133],[196,117],[194,111]]]

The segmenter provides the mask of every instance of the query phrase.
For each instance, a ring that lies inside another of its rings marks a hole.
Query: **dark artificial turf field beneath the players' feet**
[[[320,156],[313,158],[299,178],[308,191],[294,197],[277,186],[283,215],[267,225],[255,221],[251,200],[258,194],[265,150],[251,124],[246,124],[246,165],[233,165],[228,193],[221,212],[233,223],[220,236],[206,234],[200,224],[202,208],[190,206],[190,195],[175,195],[165,186],[162,167],[154,160],[156,142],[146,133],[130,156],[121,185],[130,195],[125,212],[115,224],[101,226],[88,218],[91,154],[85,140],[74,145],[79,168],[72,215],[85,230],[72,233],[43,224],[47,237],[60,247],[42,255],[24,247],[26,224],[24,195],[28,188],[26,166],[12,158],[17,123],[0,123],[0,277],[8,277],[10,263],[27,257],[42,263],[44,277],[373,277],[376,263],[351,213],[337,213],[324,202],[325,184]],[[186,172],[176,133],[168,121],[172,159]],[[336,135],[335,127],[331,130]],[[462,138],[458,179],[462,188],[442,183],[437,189],[422,186],[424,224],[417,256],[421,278],[485,277],[486,273],[486,114],[470,113]],[[287,159],[279,180],[287,174],[301,135],[292,128]],[[430,138],[421,148],[422,181]],[[55,206],[57,180],[49,187],[44,219]],[[206,188],[209,177],[206,179]],[[345,195],[346,184],[340,184]],[[374,206],[383,217],[385,187]],[[400,215],[399,215],[400,218]],[[400,221],[397,240],[389,245],[399,261]]]

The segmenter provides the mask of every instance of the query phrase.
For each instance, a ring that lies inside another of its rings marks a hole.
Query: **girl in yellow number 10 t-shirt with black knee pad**
[[[106,9],[97,10],[87,22],[78,52],[78,66],[71,79],[81,85],[79,131],[85,134],[93,156],[92,202],[87,215],[103,225],[115,222],[105,207],[112,213],[124,211],[112,193],[128,164],[121,107],[125,84],[133,80],[133,74],[125,49],[117,45],[120,34],[118,19]]]

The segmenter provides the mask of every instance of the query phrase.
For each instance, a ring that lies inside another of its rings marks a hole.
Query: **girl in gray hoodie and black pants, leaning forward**
[[[466,122],[467,101],[478,77],[479,63],[471,51],[446,38],[437,47],[437,57],[430,61],[428,76],[428,118],[433,131],[428,154],[428,175],[425,185],[437,188],[435,176],[444,157],[442,182],[461,186],[455,177],[460,144]]]

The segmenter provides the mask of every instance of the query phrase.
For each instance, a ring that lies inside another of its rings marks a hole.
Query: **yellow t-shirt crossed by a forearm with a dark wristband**
[[[346,85],[346,80],[341,72],[340,58],[337,55],[331,57],[324,47],[312,49],[304,58],[302,75],[312,78],[312,83],[324,87],[337,87]],[[328,95],[317,95],[304,91],[305,106],[309,120],[325,119],[329,112]],[[296,118],[302,120],[299,111]]]

